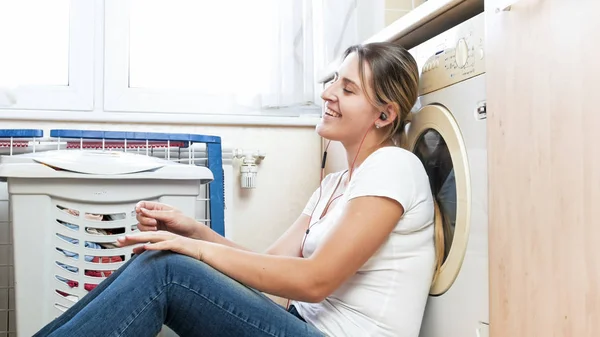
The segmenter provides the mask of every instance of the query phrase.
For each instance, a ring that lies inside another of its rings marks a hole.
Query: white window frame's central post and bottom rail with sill
[[[128,88],[128,69],[123,67],[127,65],[128,58],[122,52],[128,48],[128,37],[119,32],[119,24],[121,28],[127,24],[128,3],[129,0],[71,0],[70,85],[16,88],[11,94],[16,94],[18,102],[0,105],[0,121],[285,127],[314,127],[320,122],[320,102],[314,106],[271,108],[242,114],[219,113],[186,106],[186,102],[192,100],[198,106],[197,93],[161,93],[161,90]],[[121,16],[120,20],[118,16]],[[121,53],[111,49],[111,46],[119,45]],[[124,70],[121,75],[110,71],[114,71],[115,68],[110,66],[115,61],[120,62]],[[151,95],[157,95],[154,99],[156,105],[147,102]],[[160,104],[162,109],[159,109]],[[174,108],[174,104],[181,109]],[[222,100],[219,104],[223,105]]]

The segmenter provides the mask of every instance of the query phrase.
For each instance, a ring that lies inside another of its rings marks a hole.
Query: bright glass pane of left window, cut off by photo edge
[[[93,22],[92,1],[0,1],[0,108],[92,109]]]

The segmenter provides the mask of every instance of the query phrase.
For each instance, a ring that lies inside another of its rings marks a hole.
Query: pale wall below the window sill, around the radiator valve
[[[234,161],[234,241],[254,250],[268,247],[298,217],[318,187],[321,140],[314,127],[235,127],[0,121],[0,128],[132,130],[199,133],[222,137],[227,148],[266,152],[259,165],[257,188],[239,188]]]

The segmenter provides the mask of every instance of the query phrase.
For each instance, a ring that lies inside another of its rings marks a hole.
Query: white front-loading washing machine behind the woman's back
[[[483,337],[489,325],[484,17],[414,52],[419,99],[405,145],[423,162],[446,241],[420,337]]]

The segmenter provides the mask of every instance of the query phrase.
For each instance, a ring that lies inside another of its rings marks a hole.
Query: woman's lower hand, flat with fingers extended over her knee
[[[205,242],[173,234],[167,231],[141,232],[122,236],[117,239],[119,247],[135,247],[133,252],[141,254],[145,250],[170,250],[202,261],[203,245]]]

